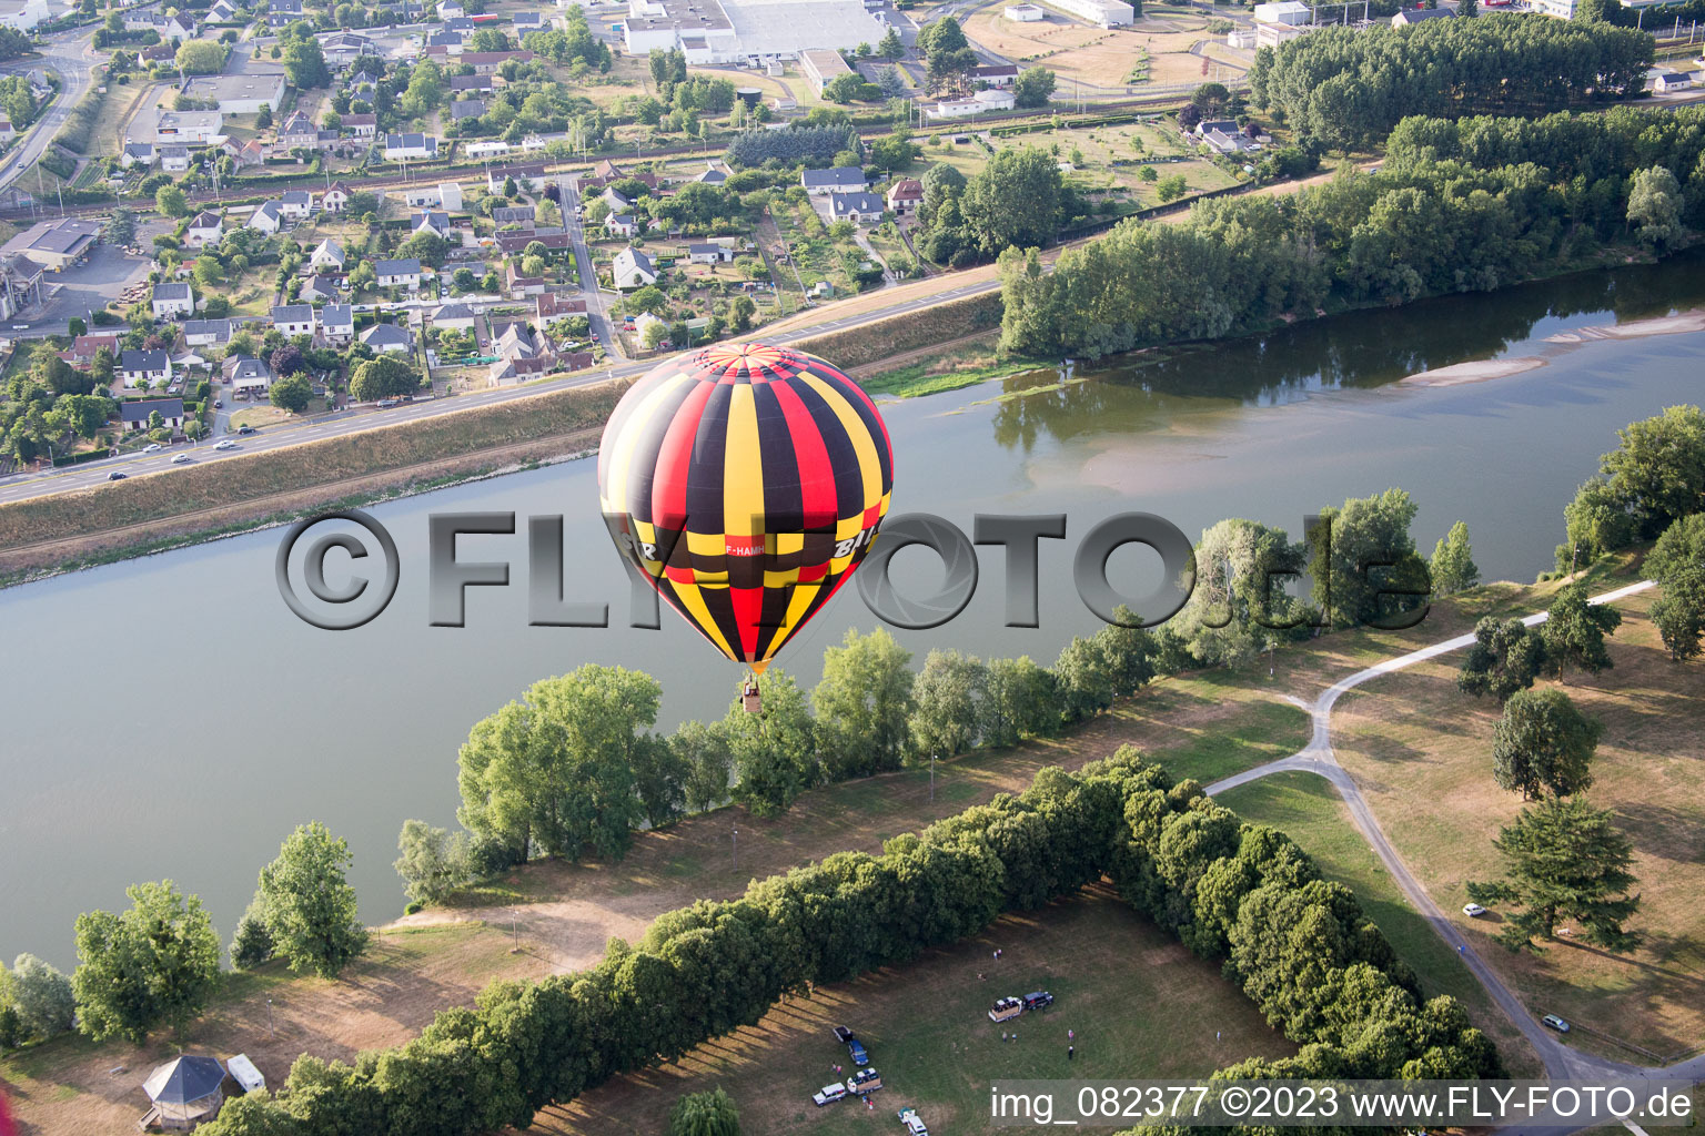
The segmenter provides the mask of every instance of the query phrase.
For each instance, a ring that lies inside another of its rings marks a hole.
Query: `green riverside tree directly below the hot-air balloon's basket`
[[[762,714],[747,714],[737,697],[723,719],[733,751],[733,797],[754,816],[777,816],[818,782],[812,712],[793,676],[769,668],[757,676]]]

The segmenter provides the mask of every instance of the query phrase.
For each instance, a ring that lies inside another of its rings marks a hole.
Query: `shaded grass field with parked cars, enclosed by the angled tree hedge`
[[[1057,1001],[1001,1025],[987,1018],[994,998],[1032,990],[1049,990]],[[832,1070],[849,1064],[834,1025],[852,1029],[881,1073],[875,1109],[858,1100],[818,1109],[810,1100],[851,1073],[837,1078]],[[1067,1029],[1076,1034],[1071,1059]],[[1016,1041],[1001,1041],[1006,1030]],[[1096,887],[1006,916],[909,966],[818,986],[675,1064],[546,1109],[530,1131],[662,1133],[682,1093],[721,1085],[748,1136],[890,1133],[905,1105],[931,1131],[977,1133],[987,1127],[996,1078],[1194,1076],[1294,1051],[1216,966]]]

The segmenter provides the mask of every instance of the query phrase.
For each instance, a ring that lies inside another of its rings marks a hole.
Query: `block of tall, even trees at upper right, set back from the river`
[[[1637,95],[1652,56],[1645,32],[1536,15],[1325,27],[1257,51],[1250,97],[1298,133],[1350,148],[1410,114],[1545,114]]]

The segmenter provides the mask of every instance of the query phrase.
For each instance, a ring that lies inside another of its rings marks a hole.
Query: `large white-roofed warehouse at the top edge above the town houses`
[[[748,56],[796,56],[808,48],[875,46],[887,31],[863,0],[629,0],[622,41],[629,55],[680,48],[687,63],[702,66]]]

